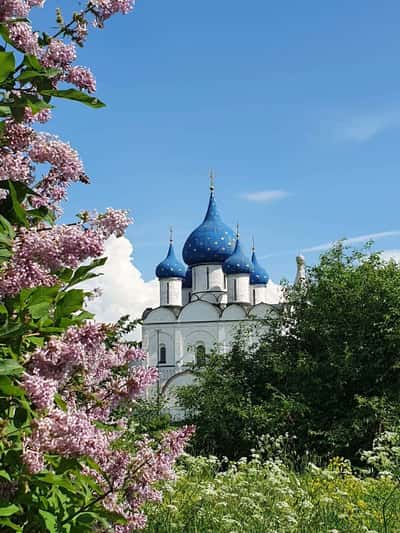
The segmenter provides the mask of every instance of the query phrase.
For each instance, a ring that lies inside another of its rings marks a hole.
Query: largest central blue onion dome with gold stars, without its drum
[[[183,260],[189,266],[220,263],[232,255],[235,234],[222,222],[211,187],[206,216],[198,228],[189,235],[183,247]]]

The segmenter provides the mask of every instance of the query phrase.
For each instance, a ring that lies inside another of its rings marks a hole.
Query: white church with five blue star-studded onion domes
[[[159,369],[163,393],[190,383],[196,359],[215,347],[227,352],[241,323],[264,317],[277,303],[276,286],[258,263],[254,245],[248,258],[239,232],[221,219],[212,183],[210,190],[204,220],[183,247],[187,266],[176,257],[171,235],[167,256],[156,268],[160,305],[143,313],[142,345],[148,364]]]

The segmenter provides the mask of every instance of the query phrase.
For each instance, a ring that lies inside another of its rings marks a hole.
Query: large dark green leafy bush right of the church
[[[287,432],[300,456],[359,460],[400,412],[400,266],[339,243],[285,300],[180,391],[196,450],[238,458]]]

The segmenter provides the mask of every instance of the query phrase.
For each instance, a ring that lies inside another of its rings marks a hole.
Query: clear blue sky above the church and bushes
[[[150,279],[169,226],[180,252],[201,222],[212,167],[225,222],[274,281],[339,238],[400,249],[399,20],[394,0],[139,0],[80,52],[107,108],[61,104],[49,123],[92,179],[65,217],[130,209]]]

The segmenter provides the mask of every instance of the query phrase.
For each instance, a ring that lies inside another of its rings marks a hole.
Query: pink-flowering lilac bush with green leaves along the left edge
[[[130,219],[108,209],[59,224],[68,186],[88,178],[78,153],[34,123],[50,119],[54,98],[104,105],[91,72],[73,65],[76,45],[133,2],[90,0],[68,23],[58,11],[53,36],[28,19],[43,3],[0,5],[0,529],[123,533],[144,527],[143,503],[160,499],[154,484],[173,475],[193,430],[156,441],[130,427],[157,372],[121,340],[123,325],[92,321],[78,286]]]

